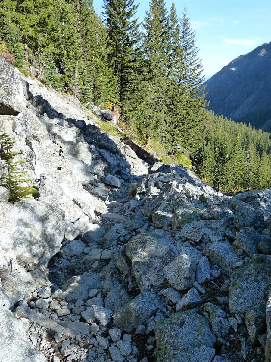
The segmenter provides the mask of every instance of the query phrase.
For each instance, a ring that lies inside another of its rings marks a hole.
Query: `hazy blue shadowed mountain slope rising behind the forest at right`
[[[203,85],[208,90],[208,109],[262,128],[271,119],[271,42],[238,56]]]

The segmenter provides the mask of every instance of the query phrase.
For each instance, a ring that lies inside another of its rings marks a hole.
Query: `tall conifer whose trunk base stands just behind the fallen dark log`
[[[163,0],[151,0],[146,12],[143,28],[143,57],[136,94],[136,108],[133,121],[141,135],[146,137],[146,145],[151,135],[159,137],[164,124],[166,87],[164,47],[168,26],[167,9]]]

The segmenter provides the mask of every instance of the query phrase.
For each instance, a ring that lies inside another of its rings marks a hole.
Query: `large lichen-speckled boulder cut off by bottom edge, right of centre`
[[[215,356],[216,338],[205,317],[195,311],[172,313],[155,328],[158,362],[208,361]]]

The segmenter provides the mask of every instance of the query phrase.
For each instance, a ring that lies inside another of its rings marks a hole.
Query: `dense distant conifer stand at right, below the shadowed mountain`
[[[198,176],[223,191],[270,188],[270,134],[212,111],[206,115],[204,142],[193,159]]]

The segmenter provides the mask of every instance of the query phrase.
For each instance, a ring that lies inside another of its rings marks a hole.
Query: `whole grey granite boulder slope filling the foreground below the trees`
[[[0,189],[0,361],[270,362],[271,189],[148,165],[3,58],[0,82],[38,190]]]

